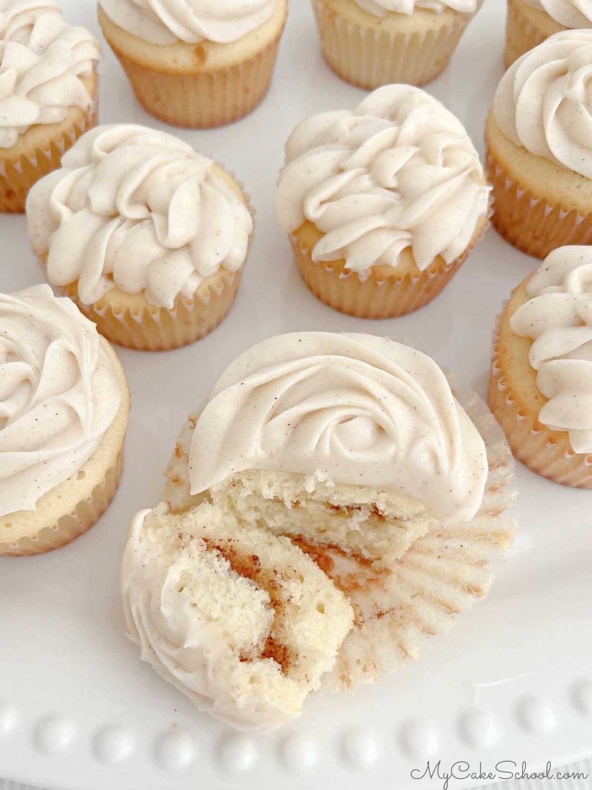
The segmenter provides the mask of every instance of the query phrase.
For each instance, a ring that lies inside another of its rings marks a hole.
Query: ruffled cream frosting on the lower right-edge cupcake
[[[529,302],[510,319],[530,337],[529,361],[549,400],[538,419],[568,431],[575,453],[592,453],[592,248],[560,247],[530,278]]]

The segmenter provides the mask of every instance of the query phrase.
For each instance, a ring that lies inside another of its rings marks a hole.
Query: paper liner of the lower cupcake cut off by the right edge
[[[552,431],[519,408],[500,364],[500,320],[501,315],[493,333],[488,401],[512,453],[542,477],[564,486],[592,488],[592,455],[575,453],[567,431]]]

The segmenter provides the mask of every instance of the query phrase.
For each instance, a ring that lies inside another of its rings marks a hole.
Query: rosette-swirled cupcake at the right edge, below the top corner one
[[[592,240],[592,30],[557,33],[519,58],[485,130],[493,224],[519,250]]]

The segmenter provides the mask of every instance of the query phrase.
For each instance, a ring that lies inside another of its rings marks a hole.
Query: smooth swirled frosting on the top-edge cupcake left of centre
[[[271,19],[277,0],[99,0],[108,17],[153,44],[237,41]]]

